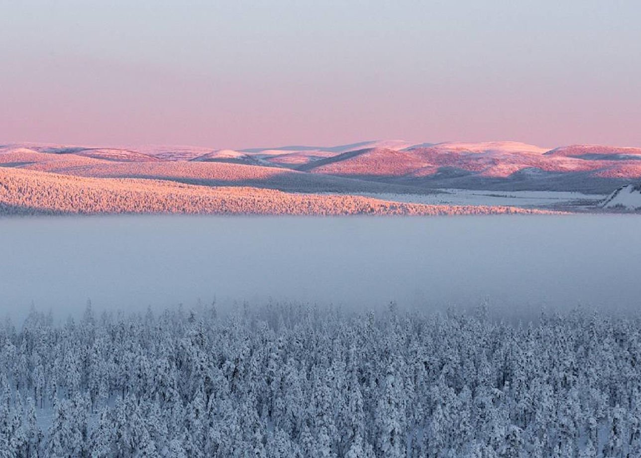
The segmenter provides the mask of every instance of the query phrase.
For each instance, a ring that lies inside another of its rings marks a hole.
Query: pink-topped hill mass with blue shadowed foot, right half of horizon
[[[549,151],[520,142],[447,142],[401,151],[349,151],[297,169],[420,189],[606,193],[631,179],[641,178],[641,155],[637,155],[641,149],[599,147],[599,151],[612,153],[603,158],[586,156],[591,148]]]

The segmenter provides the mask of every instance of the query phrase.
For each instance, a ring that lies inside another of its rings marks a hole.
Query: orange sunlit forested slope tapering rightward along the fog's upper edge
[[[0,167],[0,213],[498,214],[513,207],[449,207],[349,195],[290,194],[250,187],[206,187],[158,180],[85,178]]]

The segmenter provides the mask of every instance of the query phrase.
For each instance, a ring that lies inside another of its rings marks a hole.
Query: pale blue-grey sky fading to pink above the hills
[[[0,5],[0,142],[641,146],[638,0]]]

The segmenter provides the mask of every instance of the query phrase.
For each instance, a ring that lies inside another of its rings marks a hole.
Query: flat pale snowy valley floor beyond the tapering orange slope
[[[440,189],[437,194],[395,194],[365,192],[362,196],[394,202],[431,205],[509,205],[524,208],[589,207],[606,198],[602,194],[563,191],[477,191]]]

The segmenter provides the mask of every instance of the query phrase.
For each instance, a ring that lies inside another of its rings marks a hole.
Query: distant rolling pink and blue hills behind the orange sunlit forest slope
[[[203,165],[187,166],[186,163]],[[233,169],[232,172],[231,164],[258,168]],[[316,185],[350,179],[353,181],[349,182],[348,188],[360,183],[356,187],[370,192],[379,192],[374,189],[387,185],[405,189],[404,192],[446,188],[608,194],[641,180],[641,148],[600,145],[542,148],[514,141],[431,143],[405,140],[247,149],[24,143],[0,146],[0,165],[112,178],[172,179],[179,176],[182,182],[192,180],[189,183],[212,180],[212,176],[220,176],[219,171],[223,170],[234,176],[242,171],[240,174],[247,177],[243,178],[244,185],[262,186],[264,176],[268,174],[272,175],[269,187],[296,192],[336,191],[332,186],[306,187],[304,183],[310,180],[301,180],[301,174],[304,174],[310,179],[317,176],[313,179]],[[272,173],[265,173],[265,168],[272,169]],[[174,171],[179,171],[178,175]],[[280,177],[276,182],[281,184],[273,185],[276,176]],[[294,182],[289,182],[290,178],[295,179]],[[215,185],[217,182],[209,183]],[[340,189],[339,192],[344,191]]]

